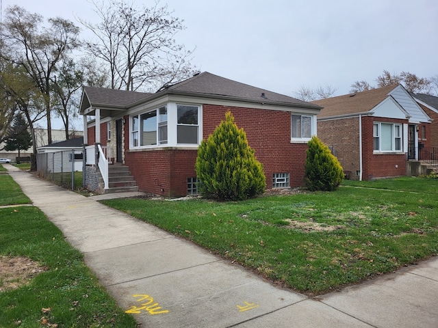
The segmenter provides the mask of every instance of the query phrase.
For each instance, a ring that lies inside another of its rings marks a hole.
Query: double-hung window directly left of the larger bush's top
[[[177,143],[198,143],[198,106],[177,105]]]

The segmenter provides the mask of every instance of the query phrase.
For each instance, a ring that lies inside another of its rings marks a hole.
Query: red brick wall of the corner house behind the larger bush
[[[290,143],[291,113],[217,105],[203,105],[203,138],[231,110],[235,123],[244,128],[249,146],[263,163],[267,188],[272,174],[289,172],[291,187],[302,185],[307,143]],[[125,164],[129,165],[140,190],[160,195],[186,195],[187,178],[196,176],[196,150],[128,151],[129,120],[125,124]]]

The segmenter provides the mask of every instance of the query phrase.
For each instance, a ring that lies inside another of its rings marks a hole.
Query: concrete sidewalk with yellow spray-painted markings
[[[142,327],[438,327],[438,258],[309,298],[93,197],[4,166]]]

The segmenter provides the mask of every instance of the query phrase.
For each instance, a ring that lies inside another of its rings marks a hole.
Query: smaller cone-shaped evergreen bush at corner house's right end
[[[318,137],[308,143],[305,169],[305,184],[311,191],[333,191],[344,179],[344,169]]]

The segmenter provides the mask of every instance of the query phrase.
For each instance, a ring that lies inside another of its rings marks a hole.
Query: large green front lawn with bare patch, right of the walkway
[[[318,295],[438,253],[438,180],[379,183],[371,184],[373,189],[343,186],[331,193],[244,202],[125,199],[103,204],[187,238],[274,282]],[[370,186],[369,182],[355,185]]]

